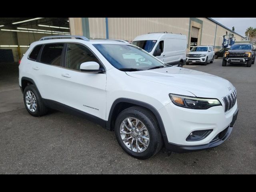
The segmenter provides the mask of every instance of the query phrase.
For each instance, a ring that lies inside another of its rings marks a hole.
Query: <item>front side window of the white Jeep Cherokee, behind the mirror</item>
[[[94,61],[98,62],[98,59],[92,52],[81,44],[69,43],[66,54],[66,68],[79,70],[80,65],[84,62]]]

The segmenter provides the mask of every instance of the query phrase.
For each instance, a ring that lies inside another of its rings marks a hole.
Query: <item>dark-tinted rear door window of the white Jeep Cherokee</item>
[[[40,62],[61,66],[61,54],[64,43],[45,44],[42,50]]]

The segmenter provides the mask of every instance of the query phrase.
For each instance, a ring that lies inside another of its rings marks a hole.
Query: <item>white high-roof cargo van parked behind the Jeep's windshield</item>
[[[137,36],[132,44],[144,49],[169,65],[186,64],[186,35],[167,32],[148,33]]]

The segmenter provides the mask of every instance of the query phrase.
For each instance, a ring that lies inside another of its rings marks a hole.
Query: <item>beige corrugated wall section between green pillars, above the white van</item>
[[[91,38],[106,38],[105,18],[89,18],[89,22]],[[138,35],[163,31],[188,36],[188,27],[189,18],[108,18],[110,39],[132,41]]]

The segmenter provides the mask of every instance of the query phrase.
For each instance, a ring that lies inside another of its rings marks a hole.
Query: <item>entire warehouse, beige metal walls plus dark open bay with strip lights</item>
[[[50,35],[122,39],[151,32],[187,36],[187,51],[196,45],[222,46],[223,36],[243,37],[211,18],[0,18],[0,62],[17,62],[29,45]]]

